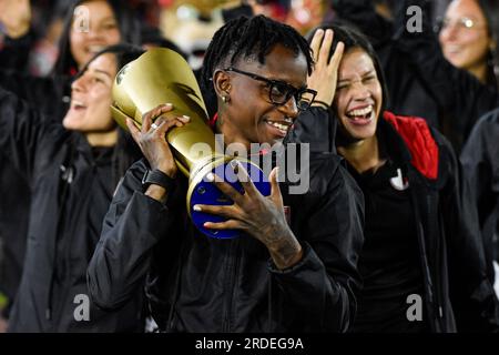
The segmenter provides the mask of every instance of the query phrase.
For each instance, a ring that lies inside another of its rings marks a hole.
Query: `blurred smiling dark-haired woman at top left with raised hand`
[[[35,78],[24,72],[32,44],[30,1],[2,3],[0,18],[6,24],[6,47],[0,50],[0,87],[45,118],[61,122],[69,108],[71,81],[77,72],[101,49],[128,41],[139,44],[139,26],[126,2],[116,0],[72,1],[59,45],[59,58],[52,74]],[[0,240],[4,260],[0,261],[0,291],[10,300],[16,296],[26,250],[29,215],[29,185],[4,154],[0,154],[2,202],[0,203]],[[13,203],[16,202],[16,203]]]

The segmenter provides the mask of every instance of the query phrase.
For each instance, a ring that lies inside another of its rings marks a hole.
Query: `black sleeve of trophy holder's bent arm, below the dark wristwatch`
[[[120,307],[144,284],[153,248],[174,224],[170,209],[142,192],[145,170],[139,161],[126,172],[88,267],[92,300],[104,310]]]

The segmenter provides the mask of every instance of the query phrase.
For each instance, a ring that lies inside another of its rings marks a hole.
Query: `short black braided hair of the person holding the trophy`
[[[296,55],[303,53],[307,61],[308,74],[312,73],[314,60],[310,48],[294,28],[264,16],[251,19],[241,17],[225,23],[210,42],[202,70],[203,88],[211,91],[215,70],[234,65],[243,58],[257,59],[259,63],[265,64],[265,57],[277,44],[284,45]]]

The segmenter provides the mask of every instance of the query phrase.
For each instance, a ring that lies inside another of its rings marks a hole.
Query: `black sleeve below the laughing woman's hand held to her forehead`
[[[286,136],[286,143],[308,143],[312,153],[335,153],[337,121],[330,110],[310,106],[302,112]]]

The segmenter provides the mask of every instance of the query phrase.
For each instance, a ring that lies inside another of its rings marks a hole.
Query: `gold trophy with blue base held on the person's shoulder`
[[[227,205],[232,201],[206,180],[208,173],[224,178],[244,193],[237,176],[228,163],[236,159],[247,170],[255,186],[263,195],[271,194],[267,176],[243,158],[225,155],[217,146],[215,134],[207,124],[207,112],[197,81],[187,62],[170,49],[151,49],[123,67],[113,84],[111,111],[114,120],[125,130],[130,118],[136,126],[142,115],[163,103],[172,103],[172,114],[191,118],[190,123],[166,133],[179,170],[189,178],[187,212],[194,225],[204,234],[216,239],[231,239],[237,231],[206,230],[204,222],[221,222],[223,217],[193,211],[195,204]]]

